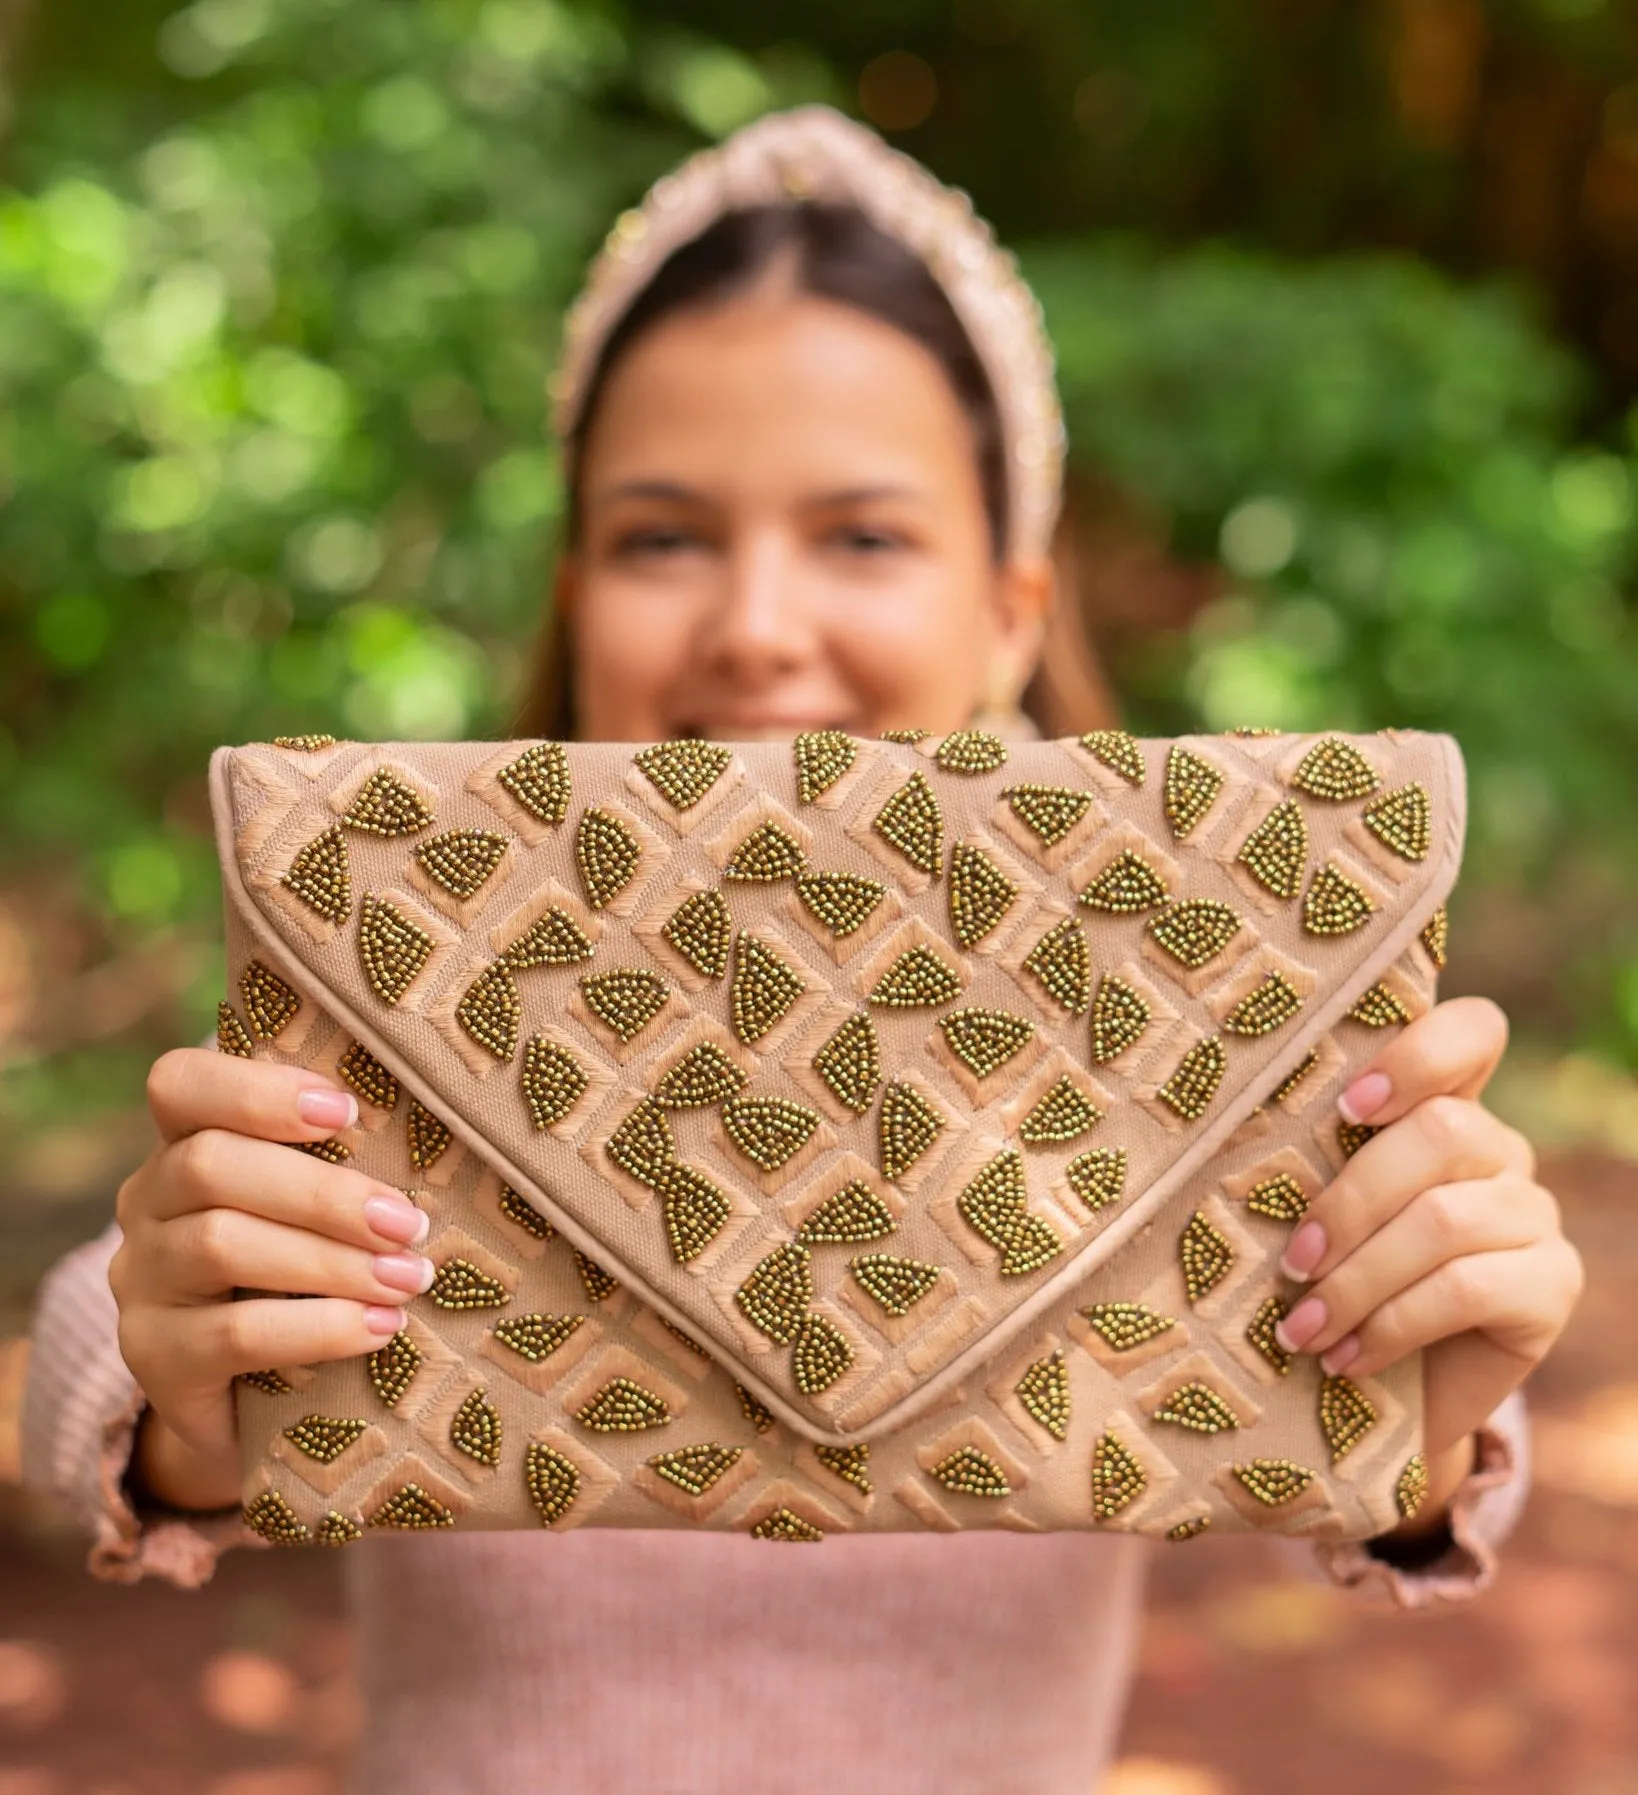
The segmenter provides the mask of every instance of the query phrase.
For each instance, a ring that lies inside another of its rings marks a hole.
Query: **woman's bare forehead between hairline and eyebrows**
[[[881,320],[789,293],[639,337],[601,397],[581,477],[588,499],[682,481],[953,488],[981,503],[971,425],[938,361]]]

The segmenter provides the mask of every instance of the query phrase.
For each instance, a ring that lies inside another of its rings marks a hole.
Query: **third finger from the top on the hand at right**
[[[1530,1246],[1554,1233],[1557,1203],[1527,1178],[1435,1185],[1320,1278],[1277,1325],[1276,1337],[1286,1352],[1326,1353],[1446,1262]]]

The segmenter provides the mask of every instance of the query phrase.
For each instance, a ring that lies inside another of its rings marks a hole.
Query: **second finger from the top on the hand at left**
[[[292,1152],[249,1134],[206,1127],[160,1156],[144,1197],[151,1221],[196,1210],[242,1210],[271,1222],[310,1228],[348,1246],[420,1246],[431,1217],[391,1185]]]

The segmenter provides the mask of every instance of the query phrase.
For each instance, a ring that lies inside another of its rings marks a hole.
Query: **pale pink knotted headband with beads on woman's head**
[[[1017,555],[1044,555],[1066,438],[1041,303],[965,192],[831,106],[766,113],[662,176],[615,219],[565,318],[549,386],[558,436],[574,429],[603,345],[673,250],[725,212],[802,199],[858,206],[940,284],[1001,415],[1008,540]]]

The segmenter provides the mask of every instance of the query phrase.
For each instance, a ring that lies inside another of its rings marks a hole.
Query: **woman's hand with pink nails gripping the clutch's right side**
[[[1310,1285],[1277,1328],[1326,1371],[1380,1371],[1421,1346],[1437,1522],[1473,1432],[1559,1337],[1582,1287],[1536,1152],[1478,1095],[1507,1046],[1487,998],[1408,1023],[1342,1095],[1372,1134],[1308,1208],[1281,1269]],[[1408,1531],[1408,1529],[1407,1529]]]

